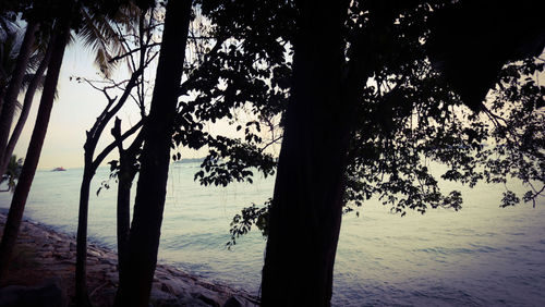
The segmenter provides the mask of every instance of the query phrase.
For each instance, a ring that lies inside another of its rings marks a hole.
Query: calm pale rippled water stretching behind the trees
[[[232,250],[225,244],[232,216],[251,202],[263,204],[272,194],[274,181],[201,187],[193,182],[196,170],[195,163],[171,167],[159,258],[257,293],[265,241],[253,232]],[[38,171],[26,218],[75,233],[81,175],[81,169]],[[107,177],[106,168],[95,177],[89,236],[116,248],[114,188],[95,193]],[[500,209],[502,188],[463,189],[460,212],[433,210],[400,218],[370,201],[360,218],[346,216],[334,304],[545,306],[545,200],[535,209],[530,204]],[[0,194],[0,208],[9,202],[10,195]]]

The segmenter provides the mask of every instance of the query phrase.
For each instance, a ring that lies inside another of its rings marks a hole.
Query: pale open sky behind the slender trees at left
[[[93,52],[82,47],[81,44],[75,42],[66,49],[59,76],[58,98],[51,111],[38,169],[83,167],[85,131],[93,126],[106,105],[106,99],[101,93],[93,89],[89,85],[70,81],[70,77],[82,76],[98,79],[97,69],[93,62]],[[155,67],[153,74],[155,74]],[[41,93],[37,93],[35,96],[31,114],[14,150],[17,157],[26,155],[40,96]],[[129,103],[133,105],[129,106],[132,108],[122,109],[119,114],[124,130],[126,130],[129,123],[134,124],[140,119],[135,103],[132,101]],[[112,140],[110,127],[105,130],[102,136],[107,142],[99,143],[97,151]],[[182,150],[182,155],[184,158],[196,158],[205,156],[206,152],[187,149]],[[105,163],[114,158],[114,156],[110,155],[105,160]]]

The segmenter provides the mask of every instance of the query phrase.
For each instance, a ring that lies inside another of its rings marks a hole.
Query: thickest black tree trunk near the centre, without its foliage
[[[293,86],[270,209],[263,306],[329,306],[350,140],[347,1],[301,1]]]

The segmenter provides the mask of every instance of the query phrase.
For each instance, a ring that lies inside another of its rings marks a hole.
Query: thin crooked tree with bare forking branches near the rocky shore
[[[145,22],[149,17],[149,23]],[[130,67],[131,77],[126,81],[116,82],[113,79],[107,78],[108,85],[104,86],[104,81],[90,81],[86,78],[77,77],[76,81],[85,82],[89,84],[95,89],[101,91],[108,103],[105,107],[102,113],[97,118],[97,121],[93,125],[93,127],[87,132],[87,140],[84,145],[84,155],[85,155],[85,163],[84,163],[84,173],[83,181],[81,186],[81,198],[80,198],[80,216],[78,216],[78,236],[77,236],[77,255],[76,255],[76,297],[85,297],[86,291],[85,288],[85,268],[86,268],[86,237],[87,237],[87,211],[88,211],[88,197],[90,189],[90,180],[93,179],[97,168],[104,161],[104,159],[114,149],[121,148],[122,143],[129,136],[138,132],[140,127],[143,125],[146,110],[145,110],[145,83],[144,79],[145,69],[154,61],[158,52],[154,51],[153,47],[156,42],[153,41],[154,28],[156,26],[154,22],[154,16],[152,14],[147,14],[145,11],[141,12],[138,19],[142,22],[138,22],[140,26],[136,33],[132,30],[125,29],[118,35],[122,37],[122,44],[125,45],[125,52],[118,54],[112,58],[112,60],[126,60],[128,65]],[[100,84],[101,86],[98,86]],[[121,90],[121,96],[118,98],[111,97],[110,91],[112,90]],[[114,136],[116,139],[110,145],[106,146],[104,150],[95,157],[95,150],[97,144],[102,137],[102,132],[106,126],[109,124],[111,119],[119,113],[121,108],[125,105],[125,102],[130,99],[135,100],[137,103],[141,115],[143,116],[141,121],[135,124],[132,128],[130,128],[124,134],[121,133],[120,120],[116,120],[114,125]],[[136,156],[142,145],[142,131],[137,134],[135,140],[133,140],[133,145],[131,145],[132,150],[129,150],[130,154],[121,150],[120,156],[122,156],[118,161],[110,162],[112,165],[112,171],[116,172],[119,188],[118,188],[118,259],[119,259],[119,272],[120,272],[120,281],[124,280],[123,268],[124,268],[124,257],[125,255],[125,245],[129,238],[129,223],[130,223],[130,187],[132,185],[132,180],[136,174],[137,168],[136,163],[132,163],[129,167],[126,160],[136,161]],[[128,156],[131,155],[131,158]],[[126,169],[131,169],[132,175],[126,175]]]

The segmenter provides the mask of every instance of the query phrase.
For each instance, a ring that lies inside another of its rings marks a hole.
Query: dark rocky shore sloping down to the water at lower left
[[[0,213],[0,233],[5,214]],[[117,254],[89,244],[87,284],[94,306],[111,306],[118,286]],[[24,221],[3,285],[38,285],[56,280],[73,305],[75,238],[35,221]],[[198,280],[172,266],[158,265],[153,306],[256,306],[257,298],[227,285]],[[227,303],[227,304],[226,304]],[[234,304],[234,305],[233,305]]]

